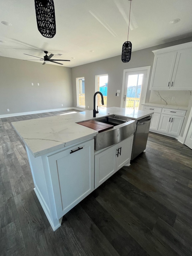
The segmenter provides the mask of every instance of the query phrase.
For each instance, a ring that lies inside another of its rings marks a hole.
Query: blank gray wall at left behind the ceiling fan
[[[71,68],[0,57],[0,115],[65,107],[73,107]]]

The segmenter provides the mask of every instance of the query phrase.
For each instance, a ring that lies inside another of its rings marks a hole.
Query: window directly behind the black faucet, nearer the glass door
[[[107,83],[108,83],[108,74],[95,76],[96,81],[96,90],[95,92],[101,92],[104,98],[104,105],[101,104],[101,96],[97,94],[97,106],[98,107],[107,107]]]

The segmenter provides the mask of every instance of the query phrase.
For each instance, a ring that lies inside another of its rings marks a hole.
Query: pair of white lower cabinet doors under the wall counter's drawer
[[[184,117],[161,114],[158,131],[179,136]]]

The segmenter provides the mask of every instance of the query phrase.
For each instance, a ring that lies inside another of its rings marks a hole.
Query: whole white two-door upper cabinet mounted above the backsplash
[[[150,90],[192,89],[192,42],[153,51]]]

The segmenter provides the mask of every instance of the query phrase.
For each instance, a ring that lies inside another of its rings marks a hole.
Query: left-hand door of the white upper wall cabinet
[[[155,56],[150,85],[151,90],[167,90],[170,88],[176,55],[177,51],[173,51]]]

